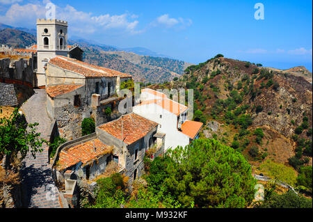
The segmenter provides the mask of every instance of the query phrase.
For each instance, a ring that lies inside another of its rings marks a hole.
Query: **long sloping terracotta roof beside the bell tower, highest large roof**
[[[55,58],[52,58],[49,63],[65,70],[83,74],[85,77],[131,77],[129,74],[99,67],[97,65],[83,63],[77,59],[67,58],[65,56],[56,56]]]

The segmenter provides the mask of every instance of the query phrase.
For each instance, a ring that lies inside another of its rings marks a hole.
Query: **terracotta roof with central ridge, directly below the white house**
[[[123,141],[129,145],[143,138],[151,129],[157,127],[157,125],[157,122],[147,120],[135,113],[130,113],[122,116],[118,120],[113,120],[112,122],[107,122],[99,126],[99,129],[104,130],[120,140],[122,140],[123,137]]]

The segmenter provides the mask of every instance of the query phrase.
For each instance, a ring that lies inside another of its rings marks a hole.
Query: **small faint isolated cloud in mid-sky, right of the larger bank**
[[[157,19],[152,22],[153,26],[163,26],[165,28],[171,28],[173,26],[179,25],[181,28],[186,26],[191,26],[191,19],[183,19],[182,17],[178,17],[177,19],[170,17],[168,14],[161,15],[157,17]]]

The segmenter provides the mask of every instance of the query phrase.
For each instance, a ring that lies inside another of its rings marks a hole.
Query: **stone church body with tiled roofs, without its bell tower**
[[[81,136],[84,118],[93,117],[96,125],[111,120],[111,116],[103,118],[104,110],[110,107],[118,113],[120,84],[131,79],[129,74],[64,56],[51,58],[45,75],[47,113],[56,120],[60,135],[67,139]]]

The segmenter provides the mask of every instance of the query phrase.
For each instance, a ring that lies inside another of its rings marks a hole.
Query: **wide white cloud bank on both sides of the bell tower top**
[[[1,0],[0,0],[1,1]],[[0,15],[0,21],[12,26],[35,26],[37,18],[45,18],[46,3],[27,3],[19,5],[15,3],[6,11],[6,15]],[[122,15],[93,15],[79,11],[76,8],[67,5],[65,7],[56,6],[56,18],[65,20],[69,23],[71,31],[74,33],[95,33],[96,31],[106,31],[115,29],[117,32],[136,34],[141,31],[136,30],[138,20],[136,15],[125,13]]]

